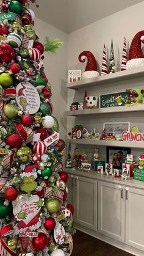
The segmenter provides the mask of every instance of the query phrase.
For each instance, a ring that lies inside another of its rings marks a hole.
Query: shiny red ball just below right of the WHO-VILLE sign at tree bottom
[[[37,237],[32,239],[32,244],[37,251],[42,251],[48,244],[48,236],[40,232]]]

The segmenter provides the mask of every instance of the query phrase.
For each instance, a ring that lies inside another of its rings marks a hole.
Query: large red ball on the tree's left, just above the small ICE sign
[[[23,139],[18,133],[13,133],[7,136],[6,144],[9,145],[11,148],[19,148],[23,143]]]

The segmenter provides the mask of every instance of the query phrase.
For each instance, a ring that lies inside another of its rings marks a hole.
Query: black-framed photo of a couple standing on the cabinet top
[[[131,154],[131,148],[107,147],[107,163],[113,165],[113,169],[122,169],[126,156]]]

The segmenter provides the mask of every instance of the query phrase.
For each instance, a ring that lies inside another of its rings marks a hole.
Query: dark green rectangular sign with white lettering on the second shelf
[[[128,92],[115,92],[99,95],[99,108],[124,106],[127,98]]]

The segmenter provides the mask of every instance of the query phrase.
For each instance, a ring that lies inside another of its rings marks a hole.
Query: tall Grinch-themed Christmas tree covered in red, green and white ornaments
[[[64,256],[73,247],[74,208],[43,68],[44,51],[61,42],[38,42],[29,2],[0,1],[0,255]]]

